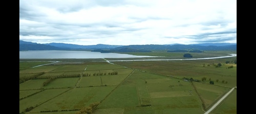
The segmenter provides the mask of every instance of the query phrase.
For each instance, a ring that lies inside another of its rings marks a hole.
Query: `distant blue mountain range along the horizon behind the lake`
[[[237,50],[236,43],[166,44],[166,45],[76,45],[66,43],[38,44],[19,40],[19,50],[108,50],[105,52],[150,52],[150,50]]]

